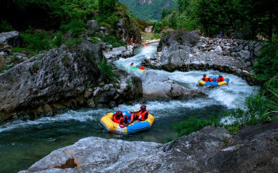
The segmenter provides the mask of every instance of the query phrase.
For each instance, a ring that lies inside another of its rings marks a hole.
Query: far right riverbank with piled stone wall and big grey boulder
[[[263,43],[200,37],[198,31],[175,30],[162,38],[154,57],[144,64],[166,71],[218,70],[255,84],[251,67]]]

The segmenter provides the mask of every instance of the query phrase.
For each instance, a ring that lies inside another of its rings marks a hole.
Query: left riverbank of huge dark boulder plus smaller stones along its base
[[[106,44],[83,41],[51,49],[0,74],[0,123],[53,116],[66,109],[114,107],[142,95],[139,77],[121,70],[110,82],[97,61]]]

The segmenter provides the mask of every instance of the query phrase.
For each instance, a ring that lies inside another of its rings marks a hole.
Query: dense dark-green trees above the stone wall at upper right
[[[262,34],[272,39],[278,31],[277,0],[177,0],[164,10],[162,22],[173,28],[201,29],[208,36],[237,32],[245,39]]]

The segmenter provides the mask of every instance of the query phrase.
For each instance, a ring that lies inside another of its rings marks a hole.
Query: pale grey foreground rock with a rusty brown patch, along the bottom
[[[278,122],[246,127],[235,137],[208,126],[164,145],[89,137],[20,173],[276,173],[277,141]]]

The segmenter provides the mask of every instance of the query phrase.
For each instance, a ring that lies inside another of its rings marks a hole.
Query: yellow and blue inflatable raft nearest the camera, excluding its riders
[[[134,112],[135,110],[132,111]],[[123,115],[128,116],[128,119],[130,121],[132,115],[130,111],[122,111],[122,112]],[[151,126],[154,124],[155,121],[154,117],[149,113],[145,121],[139,121],[130,124],[127,127],[124,127],[123,125],[120,125],[113,121],[113,114],[115,114],[115,112],[111,112],[103,116],[100,120],[100,123],[106,131],[114,134],[132,134],[139,131],[147,130],[151,128]]]

